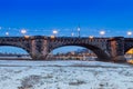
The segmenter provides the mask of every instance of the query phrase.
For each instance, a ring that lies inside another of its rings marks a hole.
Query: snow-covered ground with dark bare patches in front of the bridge
[[[0,89],[133,89],[132,83],[127,65],[0,60]]]

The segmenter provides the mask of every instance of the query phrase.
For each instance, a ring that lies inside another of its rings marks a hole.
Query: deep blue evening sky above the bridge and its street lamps
[[[133,0],[0,0],[0,36],[124,36],[133,31]]]

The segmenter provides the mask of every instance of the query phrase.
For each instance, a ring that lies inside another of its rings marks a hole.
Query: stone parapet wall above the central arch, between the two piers
[[[95,46],[102,49],[106,49],[106,38],[72,38],[72,37],[59,37],[59,38],[51,38],[50,43],[51,48],[58,48],[61,46]],[[54,44],[53,44],[54,43]]]

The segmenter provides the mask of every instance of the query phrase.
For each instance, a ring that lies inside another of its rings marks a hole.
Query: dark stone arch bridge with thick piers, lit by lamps
[[[100,61],[125,61],[124,53],[133,48],[133,38],[78,38],[78,37],[0,37],[0,46],[24,49],[32,59],[45,59],[59,47],[80,46],[92,50]]]

